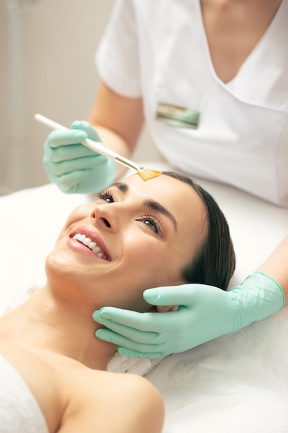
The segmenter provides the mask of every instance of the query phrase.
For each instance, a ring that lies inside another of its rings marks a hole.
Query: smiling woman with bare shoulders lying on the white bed
[[[46,259],[45,286],[0,320],[8,417],[30,431],[30,408],[18,409],[33,401],[38,433],[160,432],[158,391],[139,376],[103,371],[116,347],[95,338],[102,325],[93,312],[106,305],[154,311],[146,288],[211,284],[211,275],[225,289],[234,266],[224,215],[185,176],[130,176],[73,210]],[[17,430],[1,419],[1,433]]]

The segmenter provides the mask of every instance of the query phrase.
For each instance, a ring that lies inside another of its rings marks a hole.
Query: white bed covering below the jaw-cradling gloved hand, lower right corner
[[[146,378],[166,404],[164,433],[288,432],[288,307],[162,360]]]

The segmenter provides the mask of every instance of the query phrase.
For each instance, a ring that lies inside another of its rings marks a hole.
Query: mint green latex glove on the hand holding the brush
[[[88,122],[76,121],[71,127],[52,131],[44,143],[43,163],[48,178],[68,194],[104,190],[115,179],[115,161],[81,145],[86,138],[101,142]]]

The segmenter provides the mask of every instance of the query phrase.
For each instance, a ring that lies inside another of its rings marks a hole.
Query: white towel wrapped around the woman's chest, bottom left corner
[[[49,433],[44,415],[20,374],[0,355],[0,433]]]

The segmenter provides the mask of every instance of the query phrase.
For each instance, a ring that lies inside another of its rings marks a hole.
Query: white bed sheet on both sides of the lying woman
[[[165,165],[148,164],[166,169]],[[241,282],[288,233],[288,210],[227,185],[199,180],[227,216]],[[89,200],[55,185],[0,197],[0,315],[45,282],[44,259],[70,210]],[[164,433],[288,432],[288,309],[148,373],[166,403]]]

